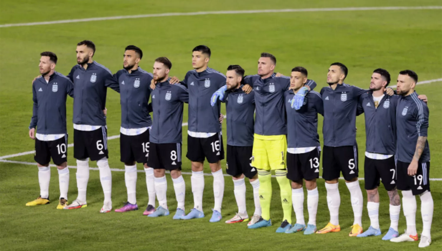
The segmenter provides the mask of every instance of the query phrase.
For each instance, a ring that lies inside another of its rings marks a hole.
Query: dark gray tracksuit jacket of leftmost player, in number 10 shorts
[[[40,134],[66,133],[66,97],[74,96],[74,86],[68,77],[55,72],[46,83],[38,77],[32,83],[32,118],[29,129],[37,127]]]

